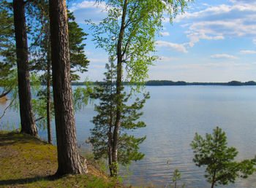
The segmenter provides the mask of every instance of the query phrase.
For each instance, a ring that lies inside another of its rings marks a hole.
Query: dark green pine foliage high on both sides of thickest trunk
[[[50,23],[48,0],[31,1],[28,9],[28,19],[33,25],[30,26],[30,36],[32,40],[29,48],[35,57],[31,59],[32,70],[46,71],[48,61],[50,61]],[[72,80],[78,80],[80,77],[75,74],[76,71],[83,73],[87,71],[89,60],[84,54],[84,40],[88,34],[75,23],[75,16],[72,12],[67,12],[69,27],[69,56]],[[51,64],[51,63],[50,63]]]

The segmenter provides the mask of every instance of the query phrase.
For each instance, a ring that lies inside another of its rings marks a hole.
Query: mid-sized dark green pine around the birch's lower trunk
[[[146,127],[146,124],[141,121],[137,121],[142,112],[138,112],[143,108],[146,99],[149,98],[149,94],[146,93],[144,98],[136,98],[135,102],[128,105],[127,101],[131,95],[125,93],[124,87],[121,88],[122,94],[116,95],[116,66],[113,61],[106,65],[107,71],[105,72],[105,82],[96,87],[96,92],[92,95],[92,98],[99,99],[99,105],[95,105],[95,110],[98,112],[92,120],[94,128],[91,130],[90,142],[93,146],[94,157],[99,159],[101,157],[108,157],[108,165],[110,170],[110,176],[116,176],[116,163],[113,162],[113,130],[116,114],[116,99],[121,98],[122,101],[122,117],[121,127],[118,133],[118,163],[121,165],[128,165],[131,161],[141,160],[144,154],[138,152],[139,144],[141,144],[146,136],[142,138],[135,138],[130,136],[127,130],[135,130],[138,128]]]

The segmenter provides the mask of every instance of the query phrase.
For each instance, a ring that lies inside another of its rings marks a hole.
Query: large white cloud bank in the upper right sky
[[[239,36],[256,37],[256,1],[232,0],[233,4],[206,7],[197,12],[178,15],[176,22],[184,24],[192,47],[200,39],[217,40]],[[256,40],[254,41],[256,44]]]

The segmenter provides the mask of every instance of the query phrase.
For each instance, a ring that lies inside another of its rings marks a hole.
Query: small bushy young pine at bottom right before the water
[[[192,141],[195,165],[206,166],[206,178],[213,188],[216,184],[234,183],[237,177],[246,179],[255,172],[256,159],[235,162],[238,152],[234,147],[227,147],[227,137],[222,129],[214,129],[213,135],[206,133],[206,138],[195,133]]]

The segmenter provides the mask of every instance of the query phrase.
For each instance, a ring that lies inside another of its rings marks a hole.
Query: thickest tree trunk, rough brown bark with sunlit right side
[[[50,0],[50,39],[59,165],[56,176],[85,173],[80,162],[75,130],[65,0]]]

